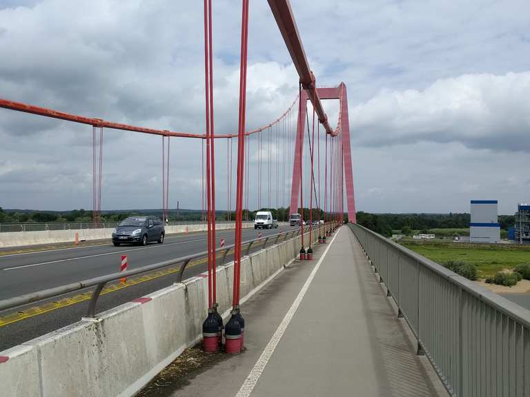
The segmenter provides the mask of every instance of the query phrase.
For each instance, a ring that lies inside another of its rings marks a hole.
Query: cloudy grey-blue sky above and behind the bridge
[[[240,7],[214,1],[219,133],[237,129]],[[358,210],[464,212],[498,199],[511,214],[530,201],[529,1],[292,8],[317,83],[348,88]],[[202,1],[0,0],[0,97],[202,133],[202,22]],[[249,40],[255,128],[288,108],[298,79],[266,1],[251,1]],[[335,119],[337,103],[325,105]],[[104,134],[102,207],[160,207],[161,138]],[[91,143],[89,126],[0,110],[0,206],[90,208]],[[171,150],[170,207],[200,208],[200,143],[173,139]],[[217,156],[226,181],[225,144]]]

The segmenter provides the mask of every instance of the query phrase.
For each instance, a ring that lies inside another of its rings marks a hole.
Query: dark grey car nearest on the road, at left
[[[112,232],[112,244],[122,243],[147,245],[150,241],[164,243],[166,230],[156,216],[130,216],[122,221]]]

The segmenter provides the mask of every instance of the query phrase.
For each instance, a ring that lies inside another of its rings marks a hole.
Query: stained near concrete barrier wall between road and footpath
[[[313,234],[313,240],[317,235]],[[300,237],[242,259],[242,302],[293,260]],[[217,298],[231,306],[233,263],[217,269]],[[202,338],[208,308],[205,274],[136,299],[97,319],[0,352],[2,396],[134,396],[186,347]]]

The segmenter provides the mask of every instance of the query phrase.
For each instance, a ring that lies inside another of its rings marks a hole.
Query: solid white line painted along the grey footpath
[[[293,319],[293,316],[295,315],[298,307],[300,306],[300,303],[302,303],[302,299],[304,299],[304,296],[306,295],[309,285],[311,285],[311,283],[313,282],[313,278],[315,278],[315,274],[317,274],[318,269],[320,265],[322,264],[322,261],[324,261],[324,257],[328,253],[328,250],[331,248],[331,244],[333,244],[333,241],[335,241],[335,237],[337,237],[337,234],[338,233],[336,233],[335,236],[333,236],[329,245],[326,247],[324,254],[322,254],[322,256],[320,257],[320,260],[317,262],[317,264],[313,268],[313,271],[311,272],[311,274],[309,274],[309,277],[307,278],[306,283],[304,284],[302,289],[300,289],[300,292],[298,293],[298,296],[293,302],[293,305],[289,307],[288,312],[286,313],[286,315],[284,316],[284,319],[282,320],[282,323],[279,323],[276,329],[276,332],[274,333],[271,340],[268,341],[262,355],[259,356],[251,373],[248,374],[241,389],[239,389],[235,397],[248,397],[251,395],[257,381],[259,380],[259,377],[262,376],[263,374],[263,371],[268,363],[268,360],[270,360],[271,356],[273,356],[273,353],[276,349],[276,346],[279,343],[279,340],[282,339],[282,336],[284,336],[285,330],[287,329],[289,323],[291,323],[291,320]]]

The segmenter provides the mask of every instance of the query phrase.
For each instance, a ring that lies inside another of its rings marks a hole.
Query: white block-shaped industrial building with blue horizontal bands
[[[471,200],[469,241],[471,243],[498,243],[500,241],[497,200]]]

